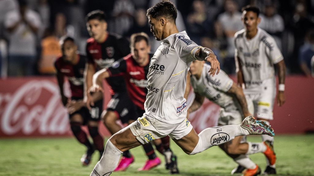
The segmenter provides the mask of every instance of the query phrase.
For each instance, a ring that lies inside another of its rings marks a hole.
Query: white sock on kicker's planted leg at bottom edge
[[[113,170],[117,167],[121,156],[120,150],[118,150],[110,140],[107,141],[105,151],[94,167],[90,176],[109,176]]]

